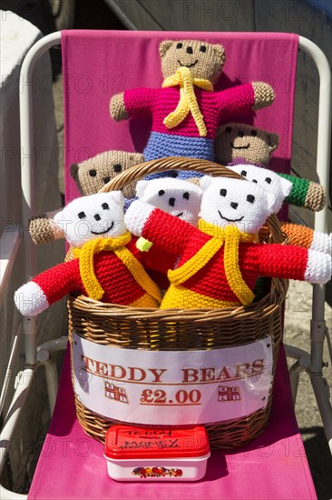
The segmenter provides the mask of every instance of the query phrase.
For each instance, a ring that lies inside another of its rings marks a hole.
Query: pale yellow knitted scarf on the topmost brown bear
[[[163,81],[162,86],[175,86],[180,85],[180,101],[176,109],[166,116],[163,124],[167,128],[173,128],[176,125],[181,124],[188,113],[191,111],[195,124],[200,132],[200,137],[205,137],[207,135],[207,129],[204,124],[203,115],[200,113],[200,107],[196,100],[196,95],[193,85],[197,85],[204,90],[209,90],[213,92],[213,85],[209,80],[204,80],[203,78],[194,78],[188,67],[181,66],[175,75],[171,75]]]

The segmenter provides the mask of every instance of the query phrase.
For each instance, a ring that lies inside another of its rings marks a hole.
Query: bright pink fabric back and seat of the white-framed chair
[[[289,171],[298,36],[249,33],[63,32],[66,199],[79,195],[69,165],[107,149],[142,152],[149,123],[117,124],[109,115],[113,94],[135,86],[161,86],[158,46],[164,39],[196,38],[221,43],[227,63],[217,88],[263,80],[276,90],[273,106],[241,117],[280,136],[271,165]],[[280,71],[280,68],[281,71]],[[231,118],[228,119],[231,121]],[[234,118],[239,121],[239,118]],[[283,350],[278,359],[274,403],[267,430],[231,453],[214,452],[197,484],[116,483],[106,472],[103,446],[77,422],[69,355],[53,422],[44,442],[29,498],[316,498],[298,432]]]

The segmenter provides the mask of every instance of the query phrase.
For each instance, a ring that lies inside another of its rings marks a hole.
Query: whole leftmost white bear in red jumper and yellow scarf
[[[161,270],[161,259],[136,247],[123,222],[120,191],[77,198],[54,222],[73,246],[75,258],[36,275],[15,292],[15,305],[23,315],[38,315],[73,291],[113,304],[161,303],[160,290],[142,265]]]

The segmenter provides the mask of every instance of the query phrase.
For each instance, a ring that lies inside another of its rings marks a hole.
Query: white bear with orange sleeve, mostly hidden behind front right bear
[[[277,214],[281,205],[293,189],[290,181],[276,174],[268,168],[256,165],[229,165],[229,169],[244,176],[249,182],[260,185],[265,190],[276,196],[273,211]],[[332,235],[314,231],[310,227],[287,222],[280,223],[281,231],[287,236],[290,245],[306,246],[326,254],[332,254]],[[267,228],[263,227],[259,235],[263,236]]]

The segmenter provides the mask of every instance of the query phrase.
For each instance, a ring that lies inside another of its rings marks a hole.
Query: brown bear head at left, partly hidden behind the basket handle
[[[111,150],[104,151],[79,164],[73,164],[70,170],[82,194],[93,195],[116,175],[143,161],[144,157],[140,153]],[[123,187],[122,194],[126,198],[132,198],[135,195],[135,183]]]

